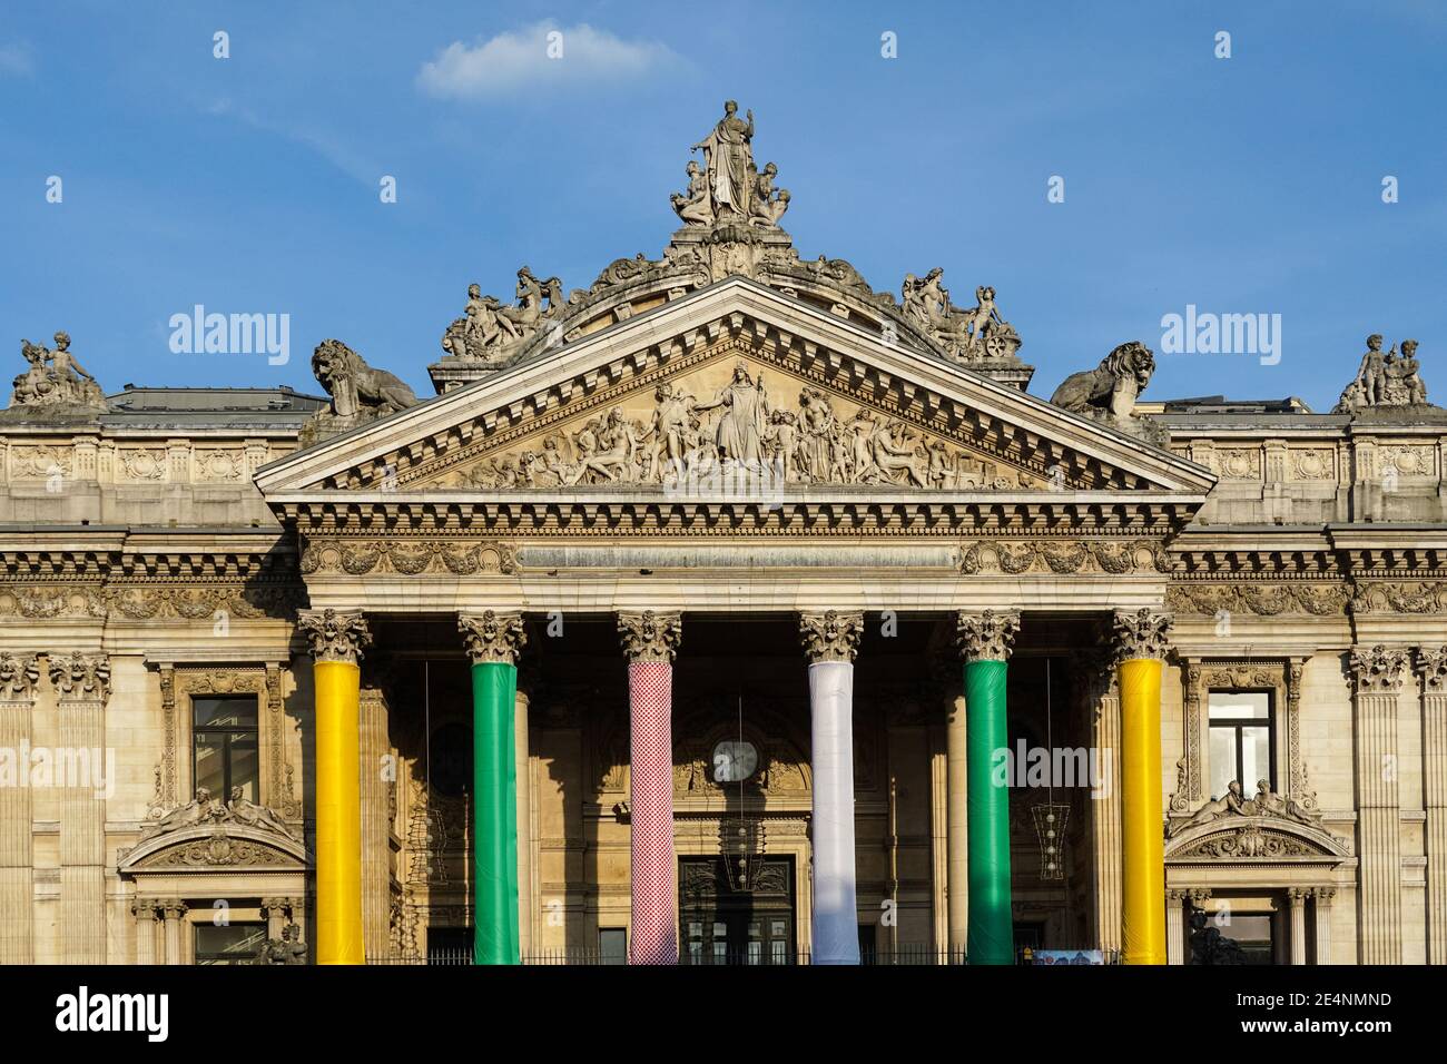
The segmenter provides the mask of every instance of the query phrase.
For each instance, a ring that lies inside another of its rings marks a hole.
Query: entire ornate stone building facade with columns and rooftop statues
[[[0,960],[1447,963],[1417,345],[1330,414],[1142,343],[1046,401],[993,288],[802,256],[752,138],[660,258],[473,285],[428,401],[23,345]]]

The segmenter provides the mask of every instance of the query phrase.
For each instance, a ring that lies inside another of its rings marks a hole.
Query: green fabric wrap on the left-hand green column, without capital
[[[472,666],[473,963],[519,964],[517,666]]]

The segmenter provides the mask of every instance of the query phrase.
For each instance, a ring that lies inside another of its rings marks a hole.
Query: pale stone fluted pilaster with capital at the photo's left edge
[[[0,964],[35,961],[35,812],[30,805],[30,718],[41,660],[0,654],[0,750],[12,751],[16,779],[0,786]]]

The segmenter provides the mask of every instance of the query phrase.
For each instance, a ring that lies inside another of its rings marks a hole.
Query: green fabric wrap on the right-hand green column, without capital
[[[1010,913],[1010,780],[996,773],[1006,750],[1006,663],[965,664],[965,770],[969,796],[971,964],[1014,964]],[[997,779],[998,774],[998,779]]]

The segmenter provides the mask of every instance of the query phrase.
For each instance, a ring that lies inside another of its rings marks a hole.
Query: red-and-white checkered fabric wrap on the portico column
[[[628,664],[632,731],[631,964],[677,964],[673,925],[673,666]]]

